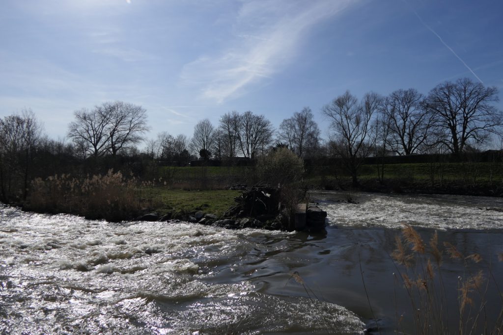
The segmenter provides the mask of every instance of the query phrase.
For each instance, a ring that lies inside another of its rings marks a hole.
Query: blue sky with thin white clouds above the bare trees
[[[30,108],[54,139],[73,112],[122,100],[191,136],[251,110],[275,127],[309,106],[469,77],[503,98],[500,0],[2,0],[0,117]],[[503,108],[501,102],[499,108]]]

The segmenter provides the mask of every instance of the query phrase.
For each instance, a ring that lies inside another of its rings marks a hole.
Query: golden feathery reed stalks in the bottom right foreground
[[[444,251],[438,247],[438,234],[435,232],[429,244],[411,227],[405,226],[402,236],[396,238],[396,249],[391,257],[401,284],[410,300],[414,333],[416,334],[473,334],[482,331],[486,334],[500,334],[503,322],[503,296],[499,291],[491,267],[476,269],[482,257],[477,254],[463,255],[455,246],[444,242],[445,252],[463,266],[463,274],[458,277],[457,313],[449,312],[452,301],[448,301],[445,278],[442,271]],[[396,278],[396,276],[394,276]],[[489,280],[494,281],[502,302],[494,324],[489,324],[487,291]],[[396,311],[396,318],[398,311]],[[457,318],[457,319],[453,319]],[[457,329],[452,329],[457,324]],[[399,323],[396,320],[396,331]]]

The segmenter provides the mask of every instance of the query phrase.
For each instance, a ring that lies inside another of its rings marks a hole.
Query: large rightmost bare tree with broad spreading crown
[[[483,143],[502,124],[502,112],[492,104],[498,100],[496,87],[484,87],[469,78],[439,84],[427,98],[439,141],[455,155]]]

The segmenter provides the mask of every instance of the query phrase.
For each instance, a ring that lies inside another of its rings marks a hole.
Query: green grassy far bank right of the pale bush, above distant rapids
[[[373,192],[503,195],[503,165],[494,163],[417,163],[363,165],[360,189]],[[304,182],[321,189],[350,189],[351,176],[336,166],[312,167]]]

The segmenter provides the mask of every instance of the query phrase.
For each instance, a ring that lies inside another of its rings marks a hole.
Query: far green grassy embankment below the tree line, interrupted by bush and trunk
[[[414,163],[363,165],[359,173],[362,188],[369,191],[432,192],[498,195],[503,188],[501,163]],[[155,178],[172,188],[223,189],[236,183],[258,182],[254,167],[159,167]],[[349,187],[351,176],[340,166],[308,166],[304,183],[312,188]]]

